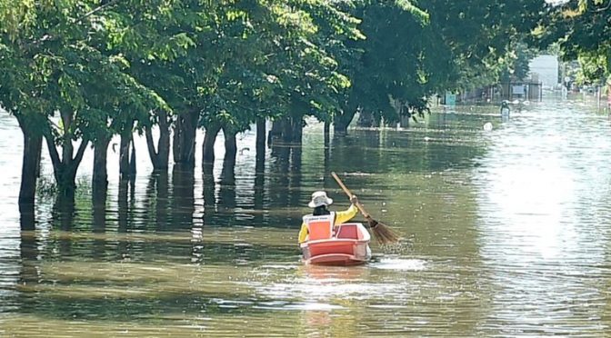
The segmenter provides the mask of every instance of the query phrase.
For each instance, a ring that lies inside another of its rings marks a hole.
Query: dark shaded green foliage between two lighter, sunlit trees
[[[422,98],[434,76],[420,35],[429,16],[406,1],[363,1],[353,12],[366,39],[347,41],[349,52],[337,53],[352,84],[341,92],[345,104],[340,115],[351,118],[360,109],[394,120],[398,116],[391,98],[424,108]]]

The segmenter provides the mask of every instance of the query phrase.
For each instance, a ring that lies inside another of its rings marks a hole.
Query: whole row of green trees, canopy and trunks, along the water
[[[221,131],[225,159],[235,160],[235,136],[252,124],[265,147],[266,120],[285,142],[299,142],[305,116],[337,134],[357,112],[393,122],[426,112],[432,94],[494,83],[516,66],[516,45],[564,39],[572,55],[575,41],[607,36],[596,20],[608,3],[0,0],[0,105],[24,134],[19,204],[34,204],[43,144],[70,197],[88,146],[94,187],[105,187],[115,135],[127,179],[135,133],[165,171],[170,155],[195,166],[199,129],[212,163]],[[579,25],[596,33],[576,35]],[[608,58],[606,39],[578,51]]]

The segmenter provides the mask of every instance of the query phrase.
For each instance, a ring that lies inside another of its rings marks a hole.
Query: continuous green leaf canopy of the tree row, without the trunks
[[[89,140],[155,124],[159,110],[236,131],[357,108],[392,121],[393,101],[420,112],[430,94],[522,77],[528,54],[511,46],[543,4],[4,1],[0,98],[14,114],[71,114],[55,134]]]

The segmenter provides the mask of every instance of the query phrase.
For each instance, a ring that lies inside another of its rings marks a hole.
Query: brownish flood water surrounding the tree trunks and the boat
[[[607,114],[554,98],[509,118],[457,107],[351,131],[327,151],[322,130],[309,124],[302,147],[268,149],[258,166],[255,133],[240,135],[233,169],[219,142],[205,174],[150,174],[136,137],[133,189],[118,183],[110,150],[107,201],[94,208],[87,154],[74,210],[40,194],[35,231],[21,231],[22,138],[0,114],[0,336],[611,332]],[[363,266],[300,262],[309,195],[326,189],[336,209],[348,205],[330,171],[401,244],[373,244]]]

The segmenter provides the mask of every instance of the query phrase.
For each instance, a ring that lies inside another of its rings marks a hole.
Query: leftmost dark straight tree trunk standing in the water
[[[24,134],[24,156],[21,168],[21,187],[19,189],[19,210],[20,212],[33,211],[36,179],[39,175],[40,153],[43,147],[43,136],[29,130],[22,125]]]

